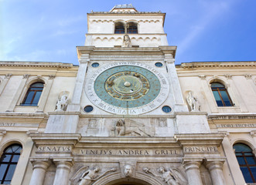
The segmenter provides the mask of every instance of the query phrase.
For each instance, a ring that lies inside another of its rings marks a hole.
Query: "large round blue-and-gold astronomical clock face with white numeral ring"
[[[103,66],[87,81],[85,92],[95,106],[109,113],[141,114],[160,106],[168,81],[151,66],[119,62]]]

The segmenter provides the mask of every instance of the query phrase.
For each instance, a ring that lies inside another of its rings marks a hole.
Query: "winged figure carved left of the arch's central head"
[[[87,167],[81,167],[80,170],[77,171],[79,173],[75,173],[74,177],[70,179],[71,181],[73,181],[73,183],[71,184],[90,185],[94,183],[94,181],[99,180],[101,177],[104,177],[104,175],[106,175],[107,173],[116,171],[116,168],[111,168],[100,174],[100,167],[94,167],[93,169],[85,170],[84,173],[80,175],[80,171],[82,171],[83,169],[85,170],[87,169]]]

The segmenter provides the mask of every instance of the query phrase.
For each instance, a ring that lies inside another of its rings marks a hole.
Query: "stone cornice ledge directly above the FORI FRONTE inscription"
[[[233,114],[208,114],[209,120],[216,119],[256,119],[256,113],[233,113]]]

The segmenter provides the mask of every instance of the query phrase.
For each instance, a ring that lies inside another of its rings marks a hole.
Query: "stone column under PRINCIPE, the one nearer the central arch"
[[[201,161],[183,161],[189,185],[203,185],[200,175]]]

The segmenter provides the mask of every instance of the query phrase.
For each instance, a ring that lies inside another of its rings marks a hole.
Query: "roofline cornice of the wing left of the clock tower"
[[[1,67],[33,67],[33,68],[61,68],[70,69],[73,67],[71,63],[61,62],[16,62],[16,61],[1,61]]]

